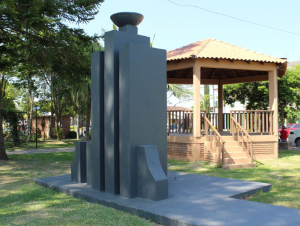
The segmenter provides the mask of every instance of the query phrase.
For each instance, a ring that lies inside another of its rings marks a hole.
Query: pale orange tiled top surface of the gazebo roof
[[[167,61],[187,58],[245,60],[271,63],[286,62],[286,59],[257,53],[216,39],[205,39],[167,53]]]

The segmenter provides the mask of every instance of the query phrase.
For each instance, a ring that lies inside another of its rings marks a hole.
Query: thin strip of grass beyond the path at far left
[[[39,149],[47,148],[68,148],[75,147],[76,139],[63,139],[61,141],[54,139],[47,139],[45,141],[38,141]],[[6,146],[9,146],[6,144]],[[26,150],[26,149],[35,149],[35,142],[25,142],[21,143],[19,147],[10,148],[6,147],[6,151],[16,151],[16,150]]]

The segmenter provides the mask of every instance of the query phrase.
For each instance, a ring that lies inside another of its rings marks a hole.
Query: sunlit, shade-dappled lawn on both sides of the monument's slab
[[[74,153],[11,155],[0,161],[1,225],[154,225],[122,211],[35,185],[33,178],[70,173]],[[169,170],[272,184],[250,201],[300,209],[300,152],[280,151],[256,168],[222,170],[208,162],[169,161]]]

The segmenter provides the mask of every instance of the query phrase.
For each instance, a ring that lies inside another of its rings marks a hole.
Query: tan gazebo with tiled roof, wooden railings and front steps
[[[169,51],[167,83],[193,84],[194,110],[168,111],[167,117],[178,119],[180,127],[172,132],[168,123],[168,158],[208,160],[223,168],[253,167],[253,159],[277,158],[277,77],[286,68],[286,59],[215,39]],[[223,114],[223,85],[255,81],[269,81],[269,109]],[[201,111],[201,84],[218,85],[218,113]]]

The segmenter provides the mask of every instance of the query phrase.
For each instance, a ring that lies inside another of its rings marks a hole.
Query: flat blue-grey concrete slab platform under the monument
[[[270,184],[168,172],[169,199],[127,199],[71,182],[70,175],[35,179],[35,183],[88,202],[136,214],[163,225],[296,226],[300,210],[239,199]]]

